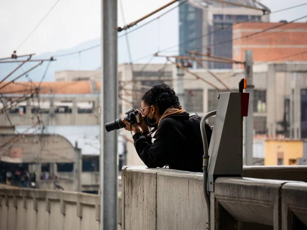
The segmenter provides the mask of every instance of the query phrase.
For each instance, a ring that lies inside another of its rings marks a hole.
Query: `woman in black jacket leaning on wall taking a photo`
[[[144,94],[138,112],[141,124],[130,126],[123,118],[122,122],[126,130],[130,131],[131,127],[134,131],[134,146],[148,168],[168,165],[170,169],[202,172],[201,118],[193,116],[191,122],[173,89],[163,83],[153,86]],[[152,131],[157,129],[153,143],[149,127]]]

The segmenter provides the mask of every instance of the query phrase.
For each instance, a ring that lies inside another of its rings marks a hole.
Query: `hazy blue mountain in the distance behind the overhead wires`
[[[165,22],[165,23],[163,23]],[[167,23],[166,23],[167,22]],[[159,25],[171,25],[171,26],[160,26]],[[134,30],[137,27],[131,28],[129,31]],[[178,12],[172,11],[165,16],[161,17],[158,20],[151,22],[150,24],[127,34],[128,43],[131,52],[131,59],[133,63],[164,63],[165,58],[154,57],[158,50],[163,50],[165,48],[173,47],[169,49],[167,54],[177,55],[178,47],[176,45],[179,42],[178,39]],[[120,38],[118,38],[118,63],[129,63],[128,50],[126,36],[124,31],[119,33]],[[56,57],[57,55],[79,52],[94,45],[100,44],[100,38],[88,40],[76,47],[58,50],[51,53],[44,53],[40,55],[35,55],[32,59],[49,59],[54,57],[56,61],[51,62],[46,77],[43,81],[54,81],[54,73],[56,71],[65,71],[65,70],[97,70],[101,66],[101,47],[94,48],[89,51],[82,52],[80,54],[74,54],[70,56]],[[35,51],[33,52],[35,53]],[[139,60],[140,58],[147,56]],[[136,61],[135,61],[136,60]],[[134,62],[135,61],[135,62]],[[8,63],[0,64],[0,79],[3,79],[7,74],[9,74],[16,66],[20,63]],[[34,66],[34,62],[25,63],[22,67],[24,71],[29,70]],[[43,74],[46,71],[48,62],[42,63],[39,67],[35,68],[28,74],[28,79],[32,81],[41,81]],[[22,70],[16,71],[8,80],[12,80],[14,77],[22,74]],[[25,76],[21,77],[18,81],[28,81]]]

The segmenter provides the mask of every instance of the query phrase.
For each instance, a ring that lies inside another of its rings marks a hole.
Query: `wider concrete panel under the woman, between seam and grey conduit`
[[[200,173],[159,170],[157,229],[206,229],[207,213]]]

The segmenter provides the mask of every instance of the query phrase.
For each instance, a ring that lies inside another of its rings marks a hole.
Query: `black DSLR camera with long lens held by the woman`
[[[136,109],[131,109],[125,114],[127,114],[127,116],[124,117],[124,120],[130,124],[137,125],[142,123],[142,117]],[[111,132],[116,129],[125,128],[126,125],[122,122],[121,118],[118,118],[115,121],[105,123],[104,127],[107,132]]]

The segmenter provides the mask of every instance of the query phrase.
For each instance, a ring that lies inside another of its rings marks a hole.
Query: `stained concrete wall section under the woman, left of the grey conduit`
[[[124,167],[122,180],[122,229],[206,229],[201,174]]]

